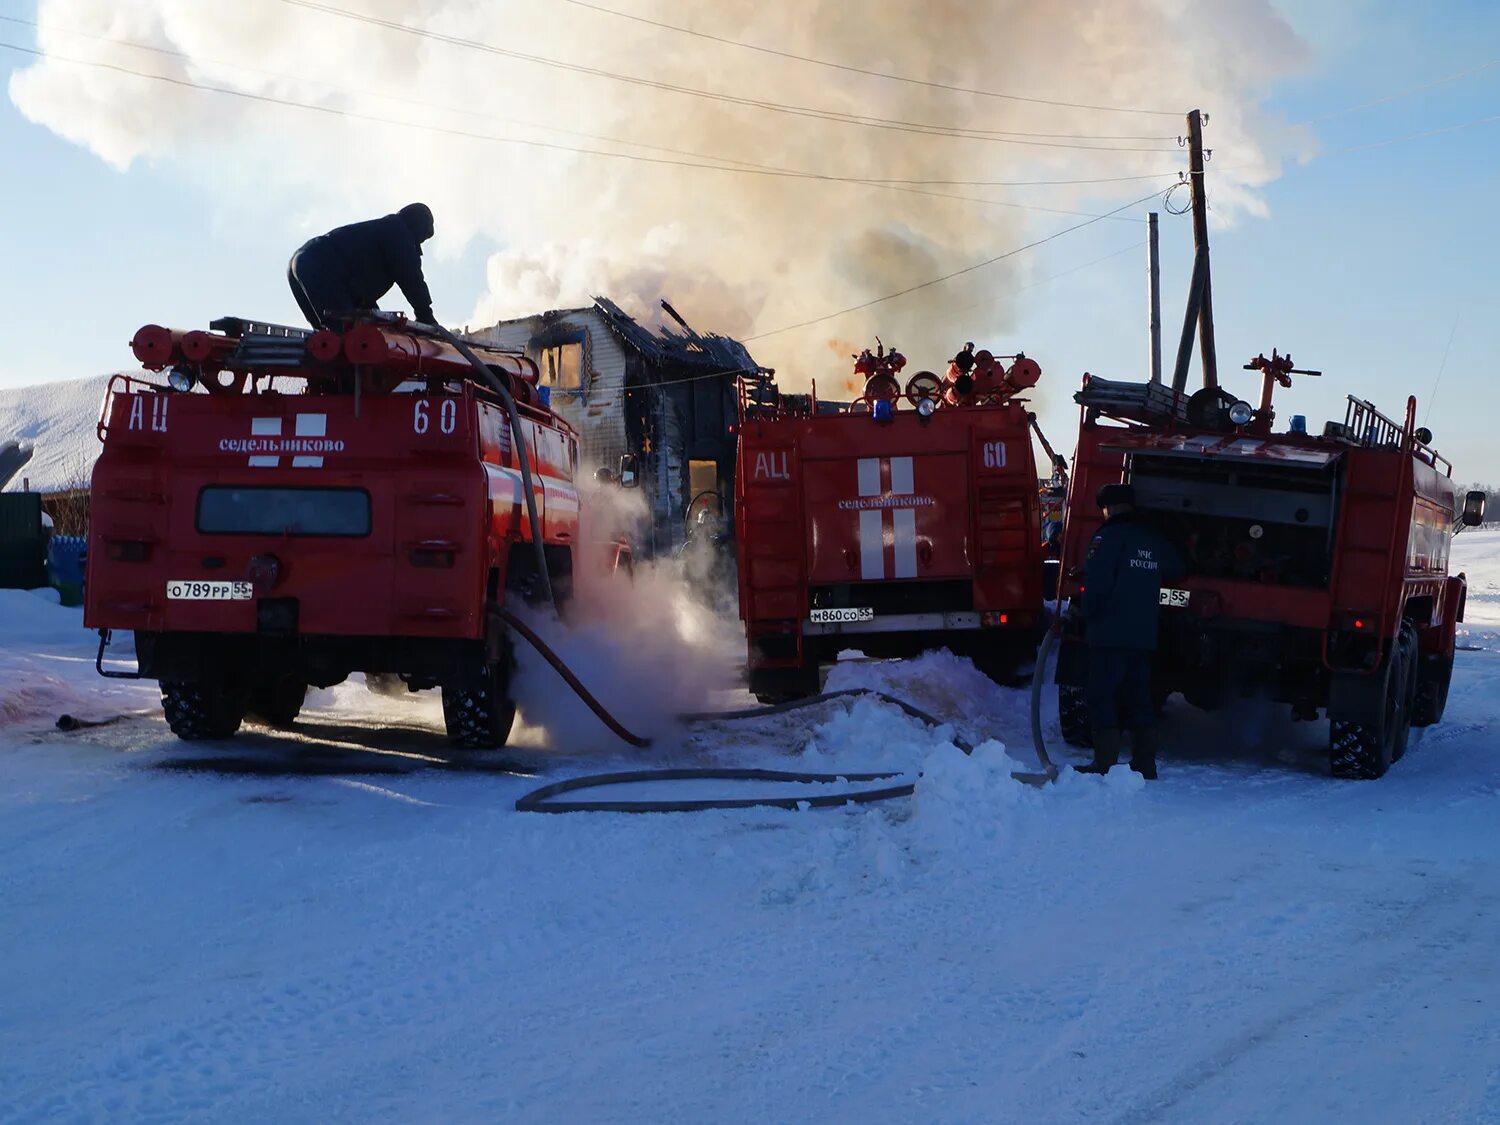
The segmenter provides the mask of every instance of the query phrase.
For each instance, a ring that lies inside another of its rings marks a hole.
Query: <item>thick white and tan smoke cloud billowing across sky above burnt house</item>
[[[656,298],[666,294],[705,330],[753,334],[960,268],[1077,219],[849,183],[500,144],[442,129],[700,162],[669,152],[676,150],[867,178],[1162,174],[1160,182],[1071,188],[924,189],[1060,210],[1116,206],[1166,184],[1184,166],[1176,146],[1180,116],[1052,108],[892,82],[676,34],[566,0],[334,2],[444,36],[675,86],[970,130],[1146,136],[1152,140],[1077,144],[1158,152],[954,140],[724,105],[286,0],[39,0],[39,46],[58,57],[20,70],[10,96],[24,114],[116,166],[148,160],[200,182],[225,219],[279,220],[288,246],[422,198],[438,214],[436,254],[456,254],[476,237],[500,246],[471,297],[440,294],[441,316],[474,324],[582,303],[592,292],[654,315]],[[720,0],[699,10],[666,0],[609,3],[792,54],[936,82],[1094,105],[1203,106],[1212,111],[1220,220],[1258,212],[1256,188],[1276,176],[1286,153],[1306,144],[1257,105],[1280,74],[1305,58],[1269,0]],[[206,93],[63,58],[422,128]],[[1028,256],[1008,260],[876,309],[766,338],[753,351],[790,386],[810,375],[842,375],[848,352],[876,333],[897,342],[915,366],[934,366],[963,339],[1004,342],[994,338],[1010,327],[1004,298],[1030,268]],[[944,315],[986,300],[993,302],[990,310],[968,314],[982,324],[954,324]]]

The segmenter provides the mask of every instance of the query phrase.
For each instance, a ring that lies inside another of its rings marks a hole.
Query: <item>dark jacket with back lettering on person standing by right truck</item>
[[[1182,556],[1136,513],[1104,520],[1083,564],[1090,646],[1155,651],[1161,586],[1182,578]]]

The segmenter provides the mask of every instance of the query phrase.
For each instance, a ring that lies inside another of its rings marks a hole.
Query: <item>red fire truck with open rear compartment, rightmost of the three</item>
[[[1380,777],[1412,726],[1443,717],[1466,582],[1448,573],[1452,466],[1416,426],[1350,398],[1310,434],[1274,426],[1290,357],[1245,364],[1258,408],[1218,386],[1191,396],[1160,382],[1089,380],[1064,534],[1062,592],[1077,594],[1102,519],[1101,484],[1128,480],[1137,508],[1174,543],[1185,578],[1161,591],[1158,699],[1180,692],[1215,710],[1257,696],[1298,718],[1329,718],[1338,777]],[[1484,494],[1460,516],[1478,524]],[[1084,626],[1065,618],[1058,664],[1064,736],[1090,741]]]

